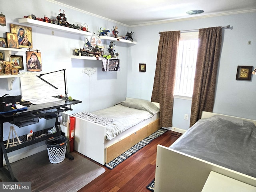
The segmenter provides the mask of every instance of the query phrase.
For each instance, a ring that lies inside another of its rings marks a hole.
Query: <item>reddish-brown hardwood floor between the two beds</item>
[[[169,147],[177,134],[168,130],[112,170],[95,162],[106,171],[79,192],[150,192],[146,186],[155,177],[157,145]]]

